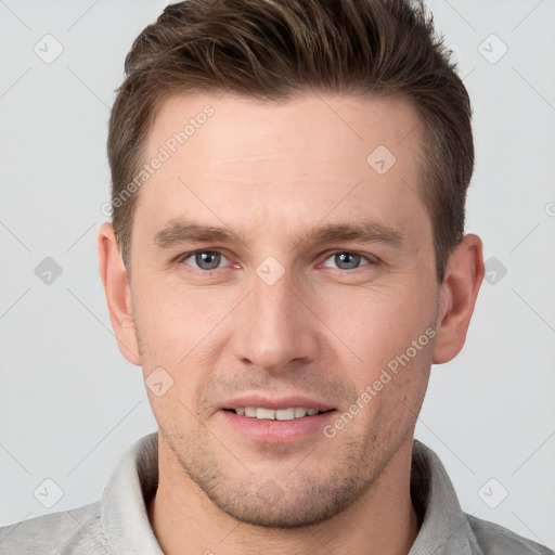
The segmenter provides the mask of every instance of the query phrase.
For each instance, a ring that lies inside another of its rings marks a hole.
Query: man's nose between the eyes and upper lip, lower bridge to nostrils
[[[295,285],[287,271],[273,284],[254,275],[234,319],[234,350],[243,363],[284,373],[317,358],[318,320]]]

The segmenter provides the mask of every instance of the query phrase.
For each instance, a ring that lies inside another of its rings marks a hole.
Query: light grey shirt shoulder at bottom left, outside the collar
[[[109,554],[100,502],[0,528],[0,555]]]

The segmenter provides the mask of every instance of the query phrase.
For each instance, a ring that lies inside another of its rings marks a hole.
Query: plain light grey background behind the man
[[[124,451],[156,428],[141,371],[116,347],[95,233],[113,91],[165,3],[0,1],[0,525],[98,500]],[[429,5],[474,103],[467,231],[493,283],[463,352],[434,369],[417,437],[466,512],[553,548],[555,2]],[[50,284],[35,273],[46,257],[62,269]],[[61,492],[44,479],[63,491],[50,508]]]

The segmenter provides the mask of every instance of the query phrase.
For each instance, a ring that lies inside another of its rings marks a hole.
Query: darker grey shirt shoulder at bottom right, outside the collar
[[[494,522],[468,516],[483,555],[554,555],[555,552]]]

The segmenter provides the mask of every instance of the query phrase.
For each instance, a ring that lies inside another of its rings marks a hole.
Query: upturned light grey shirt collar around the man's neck
[[[164,555],[151,528],[147,504],[158,483],[158,434],[137,441],[124,455],[102,496],[101,525],[115,553]],[[441,461],[414,440],[411,496],[422,527],[409,555],[480,553]]]

